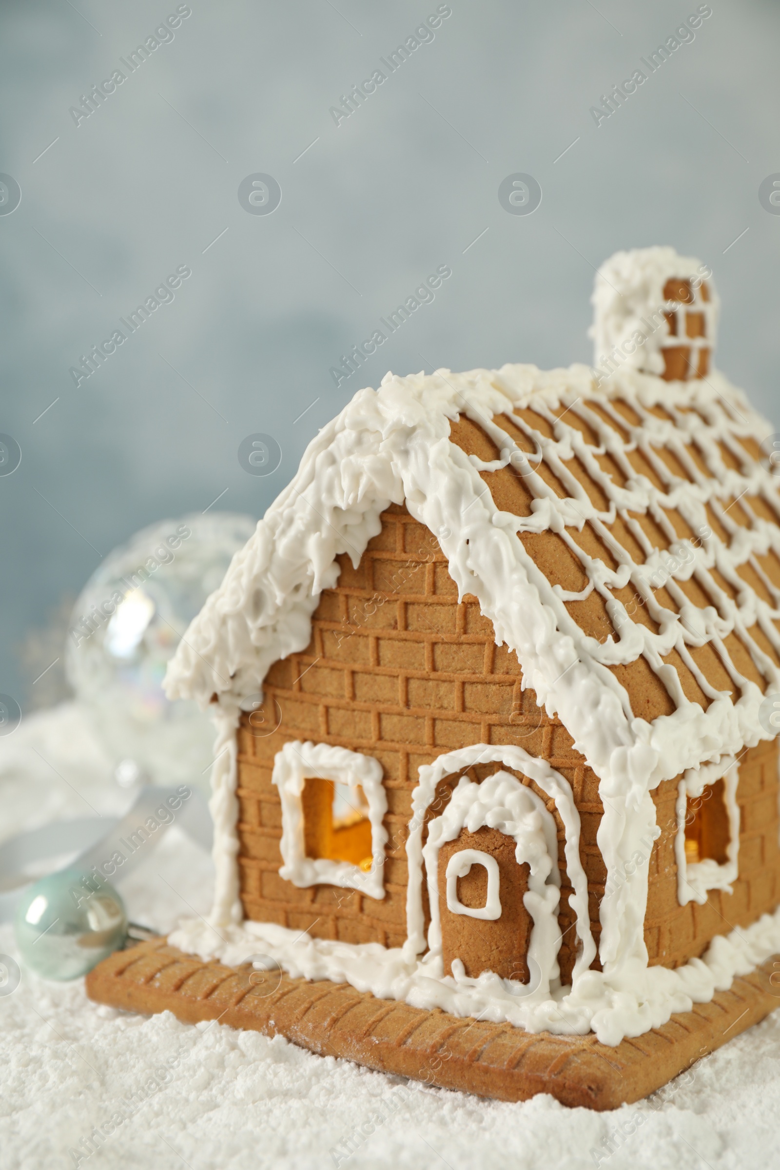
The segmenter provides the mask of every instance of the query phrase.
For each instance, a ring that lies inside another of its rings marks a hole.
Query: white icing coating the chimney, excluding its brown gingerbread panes
[[[684,305],[663,295],[670,277],[691,281],[693,302]],[[706,281],[710,300],[704,301],[702,282]],[[686,345],[690,363],[698,365],[698,351],[715,346],[719,302],[710,270],[693,256],[678,256],[674,248],[635,248],[616,252],[596,274],[593,290],[594,366],[605,358],[613,366],[626,364],[634,370],[662,374],[662,350]],[[704,336],[688,337],[685,314],[691,310],[704,317]],[[676,317],[676,335],[669,330],[664,314]],[[640,340],[639,337],[644,338]]]

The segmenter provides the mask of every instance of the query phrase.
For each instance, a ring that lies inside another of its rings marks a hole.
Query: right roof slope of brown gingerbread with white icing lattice
[[[531,399],[511,421],[483,415],[483,445],[490,433],[495,454],[510,427],[525,448],[503,470],[469,448],[462,424],[454,441],[471,450],[498,507],[518,514],[513,526],[553,586],[559,629],[577,638],[579,626],[586,652],[610,668],[646,655],[677,706],[681,686],[707,706],[718,695],[713,682],[739,691],[747,676],[761,689],[778,665],[780,558],[774,512],[760,494],[767,476],[747,425],[733,422],[712,387],[699,394],[705,419],[677,411],[668,394],[668,408],[656,401],[648,410],[641,383],[642,376],[626,376],[612,387],[621,397],[601,401],[573,392],[557,402]],[[512,466],[518,459],[527,460],[523,474]],[[553,491],[568,497],[554,505],[562,526],[550,516]],[[727,672],[719,679],[690,660],[689,646],[696,659],[709,641]],[[682,661],[675,656],[672,672],[675,652]]]

